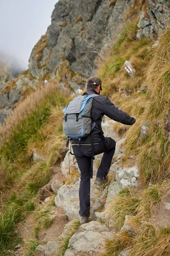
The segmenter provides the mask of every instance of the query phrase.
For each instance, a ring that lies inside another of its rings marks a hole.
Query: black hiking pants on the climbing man
[[[115,152],[116,142],[112,138],[105,137],[103,141],[94,144],[94,155],[104,152],[96,177],[102,178],[108,174],[111,160]],[[90,213],[90,176],[91,176],[91,145],[72,146],[80,172],[79,186],[79,215],[87,216]],[[106,152],[107,148],[107,152]]]

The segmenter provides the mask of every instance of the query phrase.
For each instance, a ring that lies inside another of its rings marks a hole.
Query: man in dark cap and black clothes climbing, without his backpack
[[[94,155],[104,152],[100,166],[96,174],[96,185],[102,185],[108,182],[108,171],[111,167],[111,160],[115,152],[116,142],[112,138],[104,137],[101,122],[102,116],[106,115],[111,119],[121,122],[125,125],[133,125],[135,118],[127,113],[119,110],[106,97],[100,95],[102,90],[102,81],[97,77],[87,80],[87,90],[83,95],[98,94],[93,98],[91,108],[91,118],[96,123],[93,129]],[[91,177],[91,134],[81,140],[81,146],[77,144],[77,140],[71,140],[72,148],[81,172],[79,187],[79,203],[80,203],[80,223],[88,221],[90,213],[90,177]]]

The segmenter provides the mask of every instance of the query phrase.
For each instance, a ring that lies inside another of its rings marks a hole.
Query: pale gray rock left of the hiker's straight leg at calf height
[[[57,192],[55,205],[57,207],[65,207],[73,200],[79,200],[79,186],[63,185]]]

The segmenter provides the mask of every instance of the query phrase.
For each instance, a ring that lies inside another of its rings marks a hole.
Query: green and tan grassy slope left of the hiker
[[[47,184],[52,166],[60,161],[65,136],[62,133],[62,108],[69,97],[61,94],[56,83],[38,89],[21,102],[0,129],[0,252],[5,255],[15,241],[15,224],[36,208],[38,190]],[[33,161],[32,151],[46,161]],[[8,211],[6,211],[8,209]],[[46,207],[43,208],[46,211]],[[42,216],[42,210],[41,216]],[[36,215],[37,216],[37,215]],[[37,217],[35,216],[35,220]],[[51,223],[51,216],[37,222],[37,230]],[[36,232],[35,232],[36,233]]]

